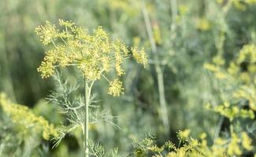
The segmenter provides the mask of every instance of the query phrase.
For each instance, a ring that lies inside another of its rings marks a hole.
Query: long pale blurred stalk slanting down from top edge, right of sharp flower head
[[[153,53],[153,57],[154,57],[154,60],[159,60],[158,49],[153,38],[153,31],[150,25],[150,18],[147,13],[147,8],[145,5],[145,2],[143,0],[141,2],[142,2],[143,19],[146,25],[147,35],[149,36],[149,39],[150,39],[150,46]],[[166,100],[165,100],[165,86],[164,86],[163,71],[161,69],[160,64],[158,63],[154,64],[154,68],[155,68],[155,71],[157,72],[157,78],[158,78],[158,93],[159,93],[159,101],[161,105],[161,119],[162,119],[163,125],[165,126],[165,130],[168,131],[169,118],[168,118]]]

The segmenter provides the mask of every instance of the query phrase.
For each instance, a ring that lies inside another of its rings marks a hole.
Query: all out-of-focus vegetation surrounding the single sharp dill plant
[[[136,142],[147,133],[154,133],[158,146],[172,141],[176,148],[169,149],[176,153],[182,146],[196,148],[186,140],[188,135],[177,137],[179,130],[201,139],[197,150],[204,156],[216,145],[226,148],[221,155],[256,152],[256,1],[1,0],[0,10],[0,156],[83,156],[80,130],[53,149],[48,137],[66,119],[46,97],[51,91],[65,91],[56,79],[41,79],[37,68],[46,48],[34,30],[46,20],[58,19],[72,20],[89,31],[102,26],[111,38],[143,46],[147,52],[147,68],[131,60],[123,64],[121,97],[107,94],[106,81],[94,86],[99,108],[111,115],[110,123],[90,125],[91,140],[98,142],[92,148],[102,156],[106,155],[99,144],[113,152],[117,148],[119,156],[134,156],[138,150],[144,156],[167,155],[167,146],[159,151],[150,148],[153,141]],[[61,75],[71,85],[80,82],[74,69],[63,69]],[[6,110],[11,104],[17,109]],[[40,122],[45,127],[37,127]]]

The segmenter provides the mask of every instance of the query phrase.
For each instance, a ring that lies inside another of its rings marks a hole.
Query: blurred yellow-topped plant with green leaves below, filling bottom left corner
[[[4,93],[0,93],[0,111],[1,156],[39,156],[48,152],[43,139],[58,136],[53,124],[28,107],[12,103]]]

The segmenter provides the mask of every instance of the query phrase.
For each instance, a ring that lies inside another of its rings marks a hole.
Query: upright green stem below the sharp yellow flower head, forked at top
[[[91,99],[91,89],[94,82],[91,85],[84,79],[84,124],[83,124],[83,147],[85,152],[85,157],[89,157],[89,105]]]

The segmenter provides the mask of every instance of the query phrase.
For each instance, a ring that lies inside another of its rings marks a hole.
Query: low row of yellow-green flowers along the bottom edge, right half
[[[234,133],[226,140],[218,137],[213,144],[208,145],[206,141],[206,133],[202,133],[199,139],[195,139],[189,136],[190,130],[179,131],[178,137],[180,144],[183,142],[182,147],[176,147],[175,144],[168,141],[164,145],[158,147],[154,144],[154,141],[150,139],[144,139],[140,146],[144,148],[137,148],[135,150],[135,157],[147,156],[147,154],[153,154],[153,156],[166,156],[166,157],[225,157],[242,155],[244,150],[251,151],[253,149],[252,140],[247,133]],[[167,155],[165,154],[167,152]]]

